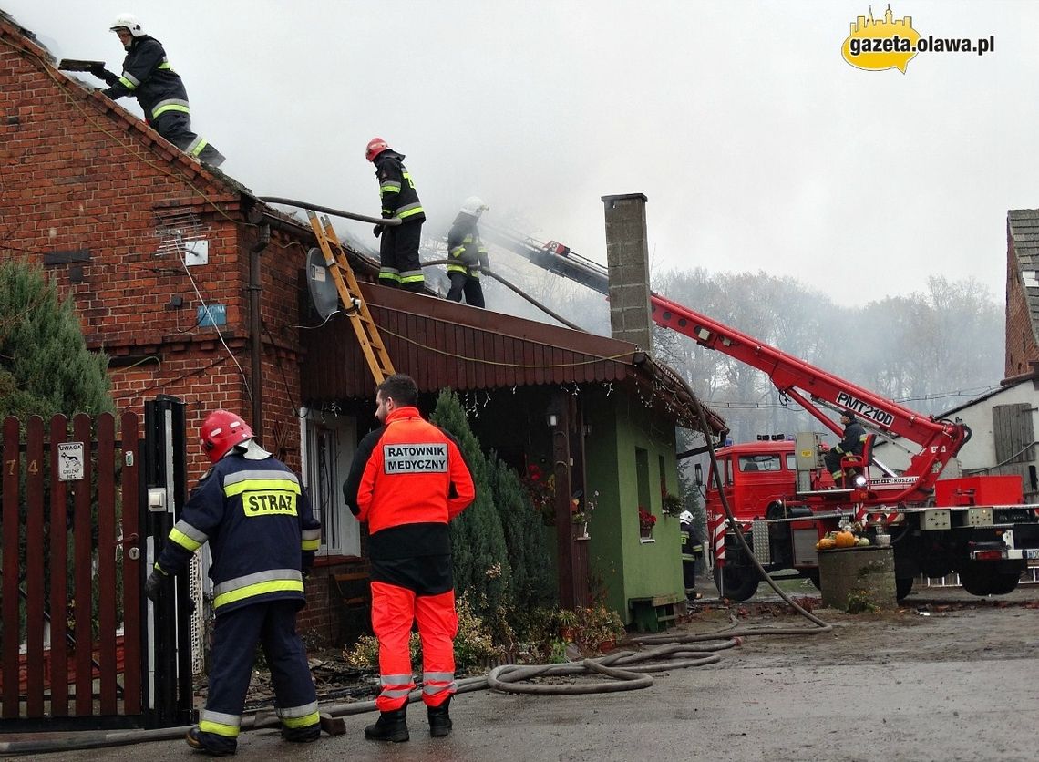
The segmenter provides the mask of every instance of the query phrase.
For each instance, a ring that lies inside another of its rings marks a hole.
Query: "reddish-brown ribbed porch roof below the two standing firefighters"
[[[636,389],[677,425],[700,429],[693,392],[635,344],[399,289],[361,289],[387,351],[420,391],[616,383]],[[304,400],[375,396],[375,380],[345,315],[337,313],[305,334]],[[704,414],[712,431],[727,430],[717,414],[707,408]]]

